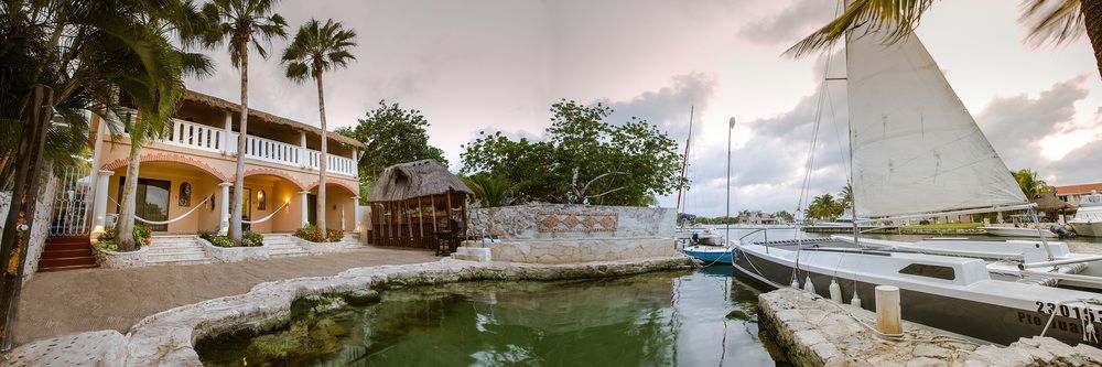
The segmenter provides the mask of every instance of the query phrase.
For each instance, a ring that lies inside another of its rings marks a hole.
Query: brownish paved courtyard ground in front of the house
[[[246,293],[267,281],[328,277],[350,268],[439,259],[432,251],[367,247],[350,252],[267,261],[34,274],[23,287],[20,299],[15,344],[108,328],[126,334],[145,316],[204,300]]]

